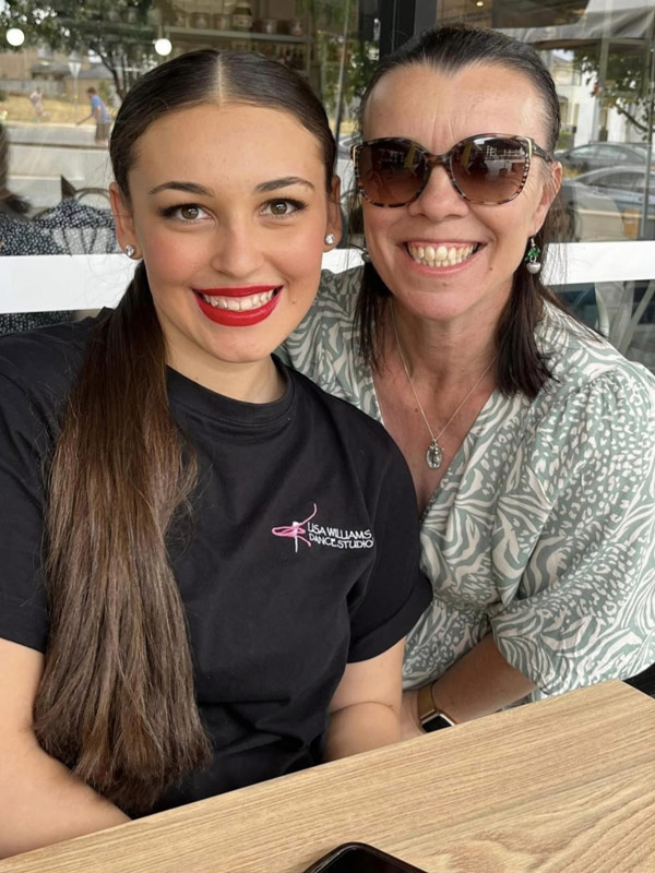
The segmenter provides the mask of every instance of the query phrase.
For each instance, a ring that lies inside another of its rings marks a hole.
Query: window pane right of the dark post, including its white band
[[[457,21],[532,44],[550,70],[562,112],[563,241],[605,243],[596,256],[564,247],[571,268],[560,292],[655,371],[655,3],[439,0],[437,23]]]

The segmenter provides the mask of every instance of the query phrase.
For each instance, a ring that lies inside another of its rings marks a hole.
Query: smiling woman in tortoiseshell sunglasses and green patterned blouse
[[[502,34],[385,59],[354,150],[368,263],[287,340],[413,474],[434,596],[406,734],[655,661],[655,379],[540,280],[558,132],[549,73]]]

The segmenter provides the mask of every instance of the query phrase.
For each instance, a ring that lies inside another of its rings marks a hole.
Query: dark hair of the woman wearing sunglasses
[[[424,64],[452,73],[477,63],[504,67],[531,81],[541,99],[546,122],[544,145],[551,153],[559,136],[560,107],[552,76],[539,56],[526,43],[520,43],[498,31],[466,24],[433,27],[385,57],[362,97],[360,119],[364,119],[376,85],[392,70]],[[541,260],[547,255],[549,244],[560,238],[562,216],[556,201],[543,227],[535,234],[535,241],[543,253]],[[384,311],[389,297],[390,291],[373,264],[366,264],[357,301],[357,323],[359,351],[373,367],[382,363]],[[564,309],[544,284],[541,274],[529,273],[522,262],[514,273],[510,299],[501,313],[496,336],[496,378],[499,390],[504,394],[523,393],[533,399],[550,378],[548,360],[535,342],[535,327],[541,318],[545,300]]]

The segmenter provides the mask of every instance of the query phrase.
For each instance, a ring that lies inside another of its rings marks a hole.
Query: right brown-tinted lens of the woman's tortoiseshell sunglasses
[[[468,140],[453,153],[452,172],[460,189],[477,203],[511,200],[521,189],[528,162],[520,140]]]

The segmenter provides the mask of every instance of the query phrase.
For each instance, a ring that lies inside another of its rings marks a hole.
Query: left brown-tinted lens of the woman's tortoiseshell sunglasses
[[[380,140],[357,155],[359,184],[372,203],[400,206],[414,200],[426,177],[426,162],[412,143]]]

